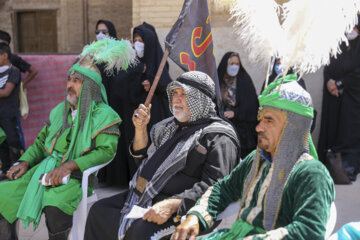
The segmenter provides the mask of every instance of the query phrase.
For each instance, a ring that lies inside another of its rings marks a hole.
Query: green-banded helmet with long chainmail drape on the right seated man
[[[264,228],[274,228],[281,204],[282,191],[294,166],[301,160],[317,159],[311,140],[310,126],[313,118],[312,99],[297,82],[296,74],[287,75],[271,83],[260,95],[260,108],[281,110],[287,120],[279,139],[269,174],[270,185],[264,202]],[[261,150],[258,148],[251,170],[244,183],[244,193],[250,189],[256,177]],[[243,195],[242,203],[247,194]]]

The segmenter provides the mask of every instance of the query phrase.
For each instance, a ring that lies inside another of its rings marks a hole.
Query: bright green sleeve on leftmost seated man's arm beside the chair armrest
[[[103,164],[110,161],[117,149],[118,136],[101,133],[95,138],[95,148],[88,153],[74,159],[80,170]]]

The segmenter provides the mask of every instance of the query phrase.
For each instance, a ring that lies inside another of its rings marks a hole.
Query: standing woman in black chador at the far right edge
[[[360,20],[360,17],[359,17]],[[347,34],[349,45],[324,69],[324,92],[319,157],[335,154],[351,181],[356,180],[360,162],[360,24]],[[330,160],[330,159],[329,159]],[[326,162],[328,165],[330,162]],[[330,169],[342,171],[342,169]],[[335,181],[336,182],[336,181]]]

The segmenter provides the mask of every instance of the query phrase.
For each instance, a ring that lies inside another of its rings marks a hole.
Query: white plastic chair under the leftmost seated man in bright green
[[[69,240],[83,240],[84,239],[85,224],[86,224],[86,218],[87,218],[87,214],[88,214],[87,206],[89,203],[96,202],[98,200],[95,191],[93,191],[93,193],[90,196],[87,196],[89,176],[90,176],[90,174],[92,174],[94,172],[96,175],[97,172],[101,168],[108,165],[111,161],[112,161],[112,159],[106,163],[88,168],[83,172],[82,183],[81,183],[81,190],[82,190],[83,195],[82,195],[82,199],[79,203],[79,206],[73,215],[73,226],[72,226],[71,232],[69,234],[69,238],[68,238]]]

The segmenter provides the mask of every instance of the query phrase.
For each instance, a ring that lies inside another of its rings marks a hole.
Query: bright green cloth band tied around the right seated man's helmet
[[[313,119],[314,109],[312,107],[308,107],[302,103],[291,101],[288,99],[281,99],[280,91],[275,91],[270,93],[270,91],[272,91],[273,89],[279,88],[281,84],[296,80],[297,80],[296,74],[289,74],[285,76],[285,79],[279,78],[278,80],[270,83],[269,86],[267,86],[267,88],[265,88],[264,91],[259,96],[259,105],[285,109],[287,111],[294,112],[302,116]],[[319,159],[311,135],[309,135],[309,150],[310,150],[310,155],[314,159]]]

